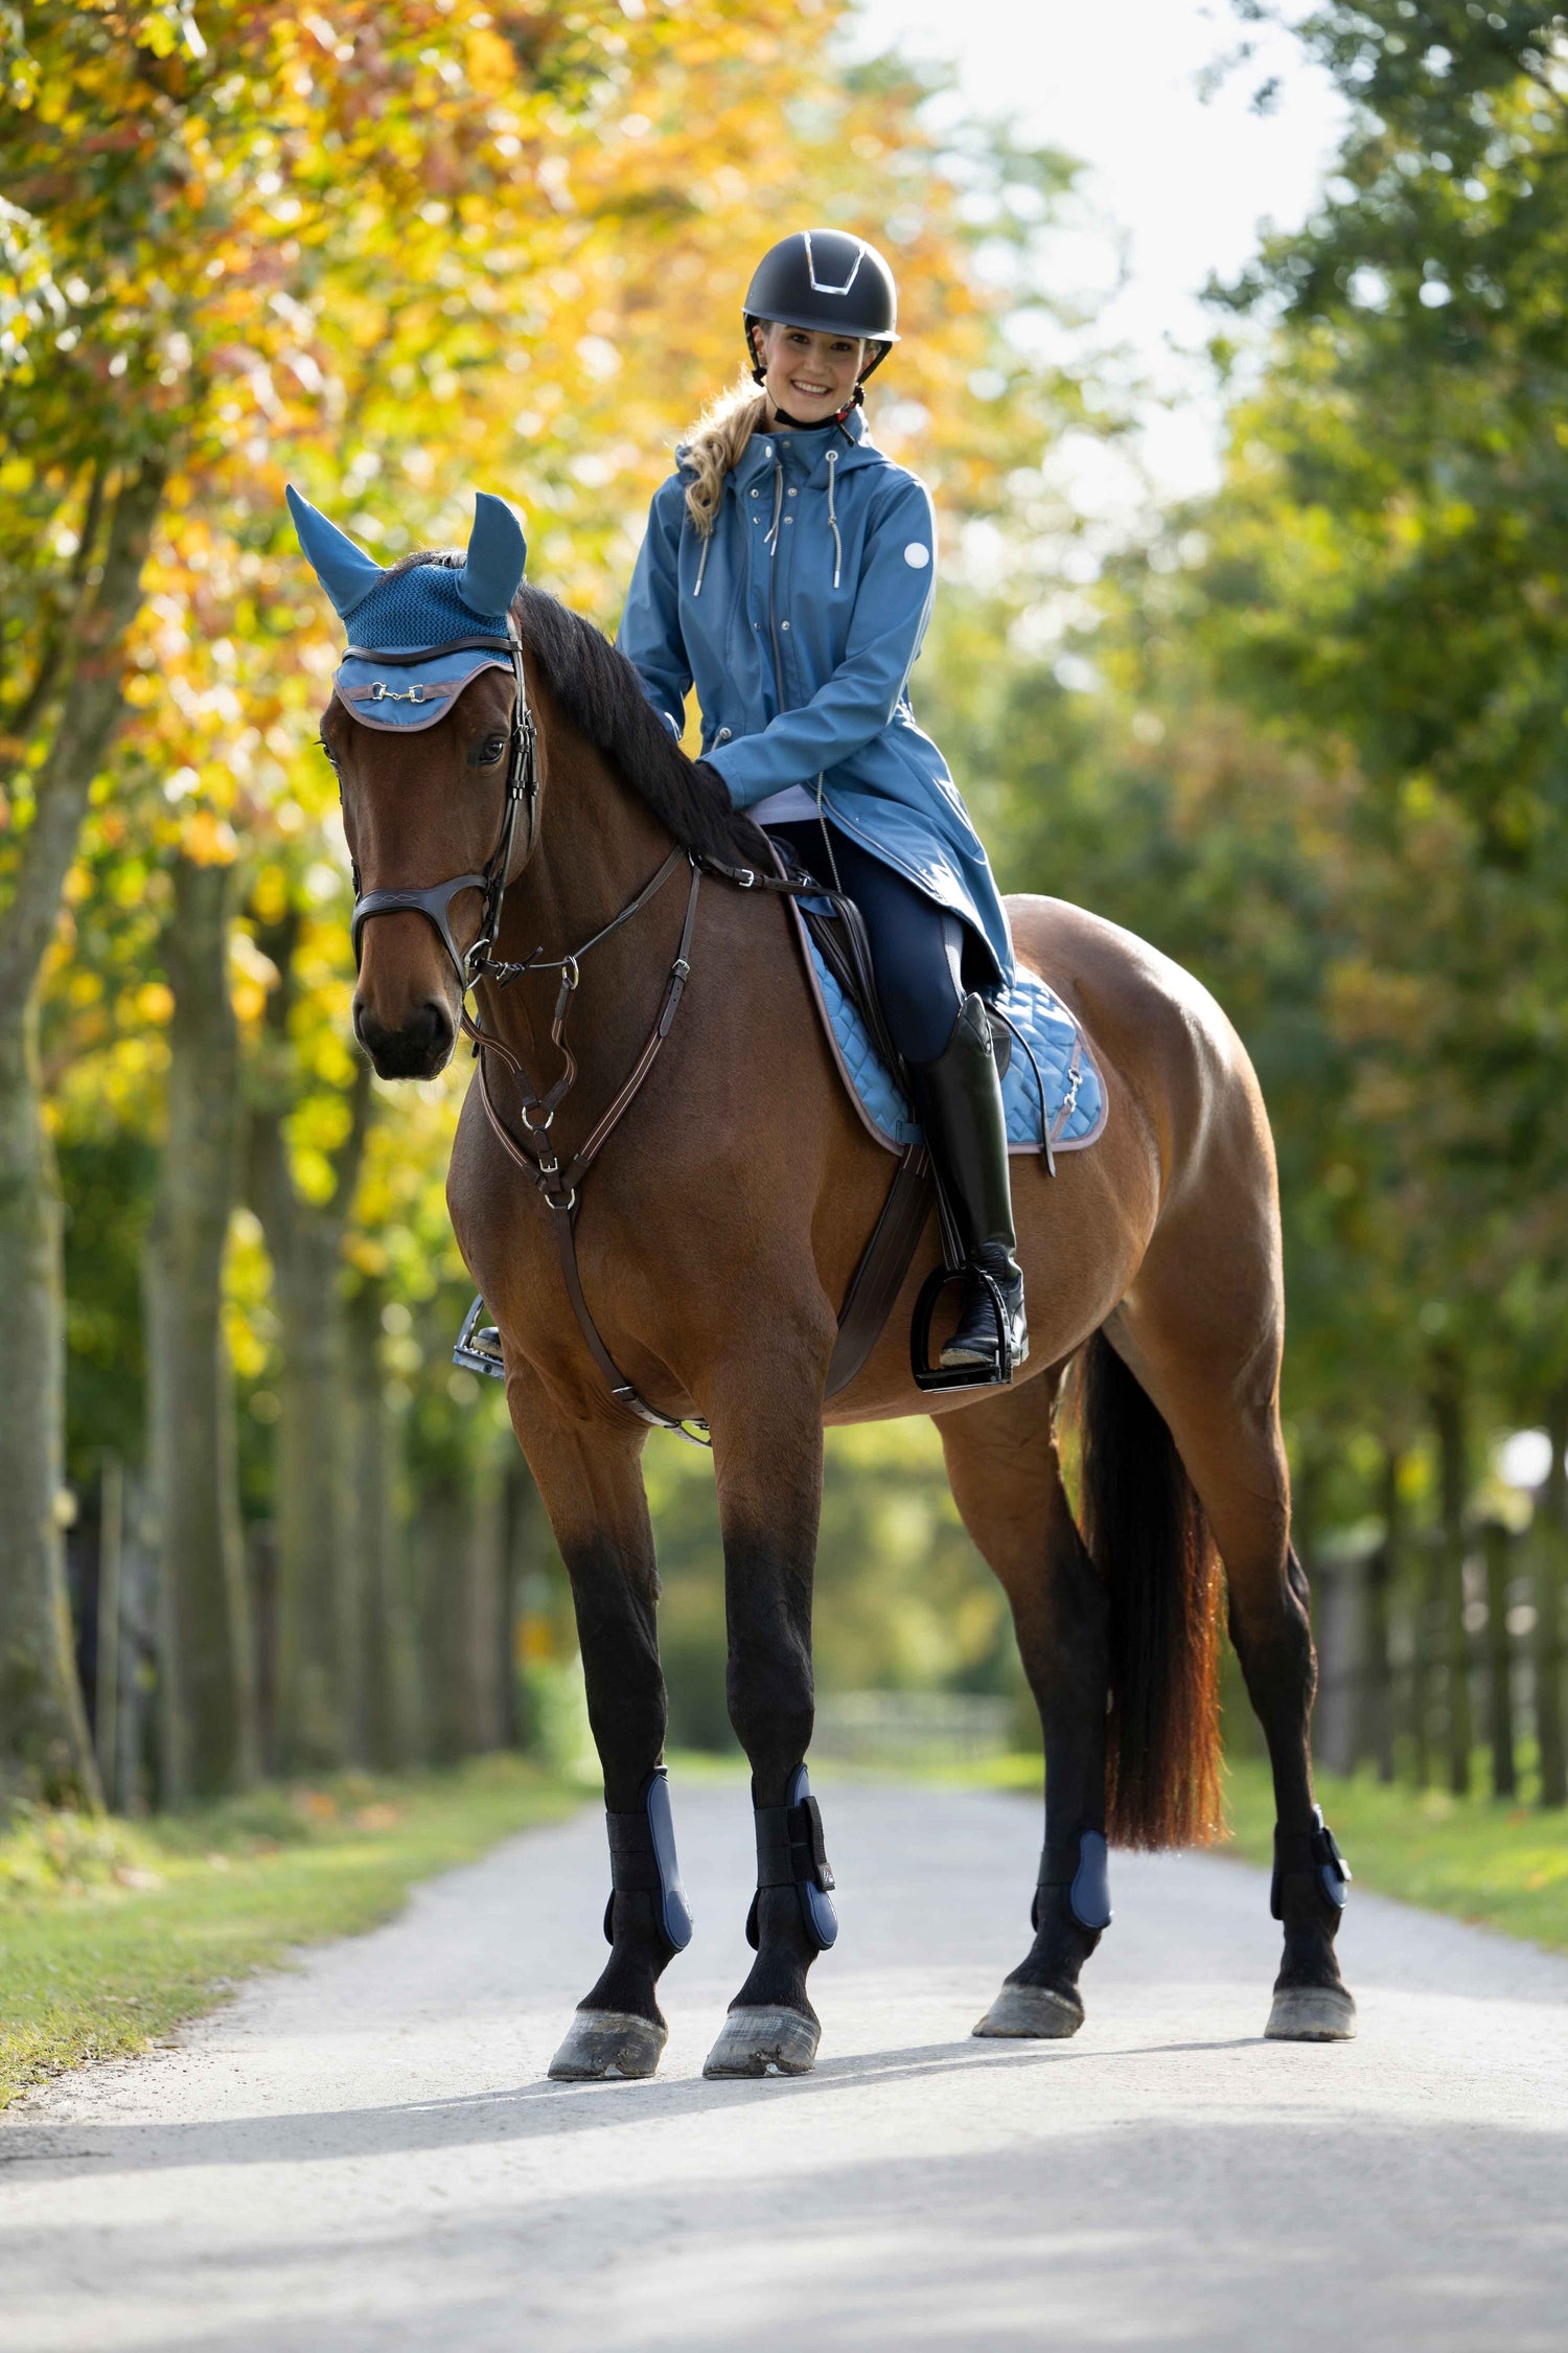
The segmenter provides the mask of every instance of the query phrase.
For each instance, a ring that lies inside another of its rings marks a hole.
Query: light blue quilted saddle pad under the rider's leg
[[[910,1106],[893,1085],[891,1073],[877,1059],[860,1014],[818,955],[816,941],[804,922],[799,925],[799,932],[811,958],[816,995],[827,1021],[827,1035],[832,1038],[844,1078],[853,1087],[867,1125],[891,1151],[900,1151],[905,1144],[917,1144],[919,1125],[910,1118]],[[997,1007],[1030,1040],[1034,1061],[1039,1064],[1039,1080],[1044,1085],[1046,1101],[1041,1106],[1030,1056],[1018,1045],[1018,1038],[1009,1040],[1013,1059],[1001,1080],[1009,1151],[1039,1151],[1044,1132],[1041,1113],[1044,1122],[1051,1127],[1053,1151],[1081,1151],[1086,1144],[1093,1144],[1105,1127],[1105,1080],[1100,1078],[1095,1059],[1088,1049],[1088,1038],[1056,991],[1046,988],[1046,984],[1023,965],[1018,965],[1016,972],[1018,976],[1011,991],[997,1000]],[[1001,1024],[997,1026],[1001,1028]],[[1067,1111],[1067,1118],[1063,1118],[1070,1099],[1072,1108]]]

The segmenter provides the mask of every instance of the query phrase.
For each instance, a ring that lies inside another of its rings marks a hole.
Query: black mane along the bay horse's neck
[[[461,567],[451,548],[428,548],[404,555],[393,572],[411,565]],[[766,840],[717,781],[698,774],[679,748],[625,654],[609,638],[562,605],[559,598],[527,584],[512,598],[512,619],[522,649],[538,664],[550,696],[595,751],[616,765],[625,784],[646,800],[684,849],[722,859],[731,866],[766,866]]]

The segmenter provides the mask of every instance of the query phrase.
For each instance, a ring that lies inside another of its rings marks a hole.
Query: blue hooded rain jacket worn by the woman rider
[[[790,784],[816,795],[820,779],[837,826],[978,934],[994,993],[1013,979],[1006,911],[910,711],[933,598],[931,494],[863,438],[856,409],[842,431],[755,433],[708,541],[672,473],[616,642],[675,736],[696,685],[703,760],[738,809]]]

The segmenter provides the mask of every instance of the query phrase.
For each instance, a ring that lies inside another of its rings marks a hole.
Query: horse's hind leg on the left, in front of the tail
[[[1058,1374],[938,1424],[964,1527],[1013,1609],[1046,1739],[1046,1845],[1034,1944],[978,2035],[1072,2035],[1079,1969],[1110,1922],[1105,1882],[1105,1586],[1084,1551],[1056,1457]]]

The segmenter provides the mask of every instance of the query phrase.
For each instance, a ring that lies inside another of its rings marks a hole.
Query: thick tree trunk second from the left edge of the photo
[[[169,1132],[143,1261],[148,1457],[160,1562],[165,1805],[256,1779],[256,1685],[240,1544],[223,1247],[240,1136],[228,1000],[230,868],[174,861]]]

